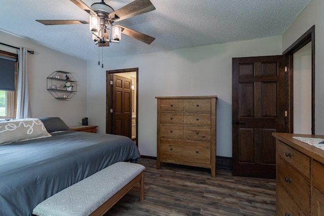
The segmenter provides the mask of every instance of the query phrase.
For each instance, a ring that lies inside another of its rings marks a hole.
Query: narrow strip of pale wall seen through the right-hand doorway
[[[294,54],[294,133],[311,134],[311,43]]]

